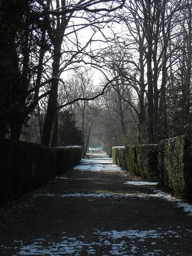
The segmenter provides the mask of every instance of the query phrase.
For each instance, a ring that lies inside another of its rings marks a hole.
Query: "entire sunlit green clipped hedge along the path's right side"
[[[175,195],[192,196],[192,136],[161,140],[157,145],[113,147],[112,152],[113,162],[124,169],[159,181]]]

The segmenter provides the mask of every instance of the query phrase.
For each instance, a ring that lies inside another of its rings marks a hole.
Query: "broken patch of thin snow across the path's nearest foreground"
[[[169,244],[170,239],[180,239],[183,236],[192,237],[192,230],[185,230],[184,227],[172,227],[155,230],[93,230],[92,234],[86,237],[85,233],[77,236],[70,236],[67,233],[61,234],[60,241],[50,241],[49,235],[45,238],[37,238],[29,243],[14,241],[13,247],[18,255],[50,255],[50,256],[81,256],[97,255],[97,250],[102,250],[103,256],[159,256],[163,254],[162,244]],[[181,235],[182,231],[185,231]],[[3,246],[2,246],[3,247]],[[5,249],[7,249],[4,246]],[[8,248],[9,249],[9,248]],[[170,255],[172,255],[170,250]]]

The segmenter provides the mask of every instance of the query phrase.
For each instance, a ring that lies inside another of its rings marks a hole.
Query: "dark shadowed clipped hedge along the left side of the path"
[[[46,148],[35,143],[0,141],[0,203],[45,184],[81,159],[81,148]]]

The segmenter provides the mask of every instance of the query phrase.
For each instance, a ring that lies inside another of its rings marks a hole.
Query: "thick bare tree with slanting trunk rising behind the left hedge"
[[[41,4],[41,6],[44,8],[44,12],[46,13],[48,26],[47,31],[53,47],[51,93],[49,95],[47,115],[41,143],[42,145],[49,146],[53,117],[58,107],[58,78],[61,75],[61,72],[64,70],[64,67],[60,69],[61,46],[64,37],[69,39],[67,35],[72,33],[76,36],[77,50],[74,52],[72,47],[72,50],[70,51],[70,61],[72,61],[77,57],[78,54],[84,52],[89,44],[88,42],[83,48],[79,45],[77,31],[90,25],[93,26],[94,24],[98,25],[99,23],[106,22],[105,15],[115,9],[118,9],[119,7],[122,7],[122,3],[111,0],[105,0],[105,6],[103,6],[103,1],[98,1],[96,5],[94,0],[81,0],[76,3],[71,3],[70,1],[67,2],[65,0],[56,0],[56,6],[54,6],[52,0],[47,0],[47,5],[45,5],[41,0],[39,0],[38,3]],[[76,17],[75,20],[74,17]],[[85,22],[83,24],[75,24],[77,17],[79,17],[79,19],[84,19]],[[72,32],[67,32],[67,29],[72,29]],[[70,41],[69,44],[71,44]],[[65,47],[68,48],[68,46]],[[63,50],[65,53],[69,52],[68,49]],[[64,54],[64,52],[62,52],[62,54]]]

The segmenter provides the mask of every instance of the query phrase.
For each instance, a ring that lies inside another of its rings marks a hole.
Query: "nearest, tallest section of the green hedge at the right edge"
[[[158,143],[160,183],[183,198],[192,196],[192,136],[183,135]]]

